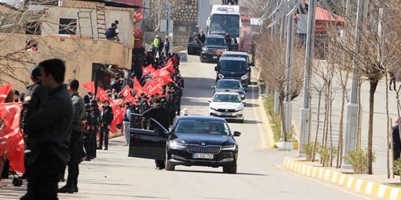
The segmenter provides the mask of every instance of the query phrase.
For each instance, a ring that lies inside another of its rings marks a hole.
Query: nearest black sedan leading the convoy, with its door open
[[[170,132],[153,119],[139,124],[131,125],[128,156],[164,160],[166,170],[177,165],[209,166],[237,173],[238,144],[233,136],[241,133],[231,133],[223,118],[182,116]]]

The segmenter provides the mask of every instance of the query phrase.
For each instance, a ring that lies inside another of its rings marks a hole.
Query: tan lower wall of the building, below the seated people
[[[122,43],[108,40],[92,40],[85,38],[65,38],[55,36],[38,37],[24,34],[0,34],[0,40],[5,40],[7,48],[0,49],[2,55],[5,52],[20,51],[25,46],[26,39],[34,39],[38,42],[37,52],[21,51],[20,59],[26,63],[8,62],[12,66],[19,67],[15,76],[29,83],[28,70],[32,63],[38,63],[46,59],[60,58],[67,66],[65,80],[76,78],[79,82],[88,82],[92,78],[92,64],[114,64],[122,68],[131,68],[132,50]],[[0,64],[6,64],[5,62]],[[74,73],[75,69],[75,73]],[[4,75],[0,75],[4,76]],[[3,78],[3,77],[2,77]],[[6,82],[13,83],[13,88],[25,91],[25,84],[13,78],[5,78]],[[79,92],[85,94],[83,88]]]

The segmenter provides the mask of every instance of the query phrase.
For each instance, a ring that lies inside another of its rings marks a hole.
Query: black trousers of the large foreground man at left
[[[58,200],[57,183],[65,163],[53,152],[43,151],[33,164],[27,165],[30,200]]]

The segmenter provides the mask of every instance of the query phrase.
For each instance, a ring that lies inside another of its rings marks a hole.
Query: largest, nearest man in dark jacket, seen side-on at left
[[[70,159],[72,102],[63,85],[65,64],[62,60],[46,60],[39,64],[41,82],[49,90],[45,104],[29,116],[30,152],[28,168],[28,199],[57,200],[57,183],[63,166]]]

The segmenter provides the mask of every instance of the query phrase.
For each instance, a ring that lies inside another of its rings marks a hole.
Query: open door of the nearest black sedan
[[[168,130],[153,118],[132,114],[128,156],[165,160],[166,141],[169,136]]]

